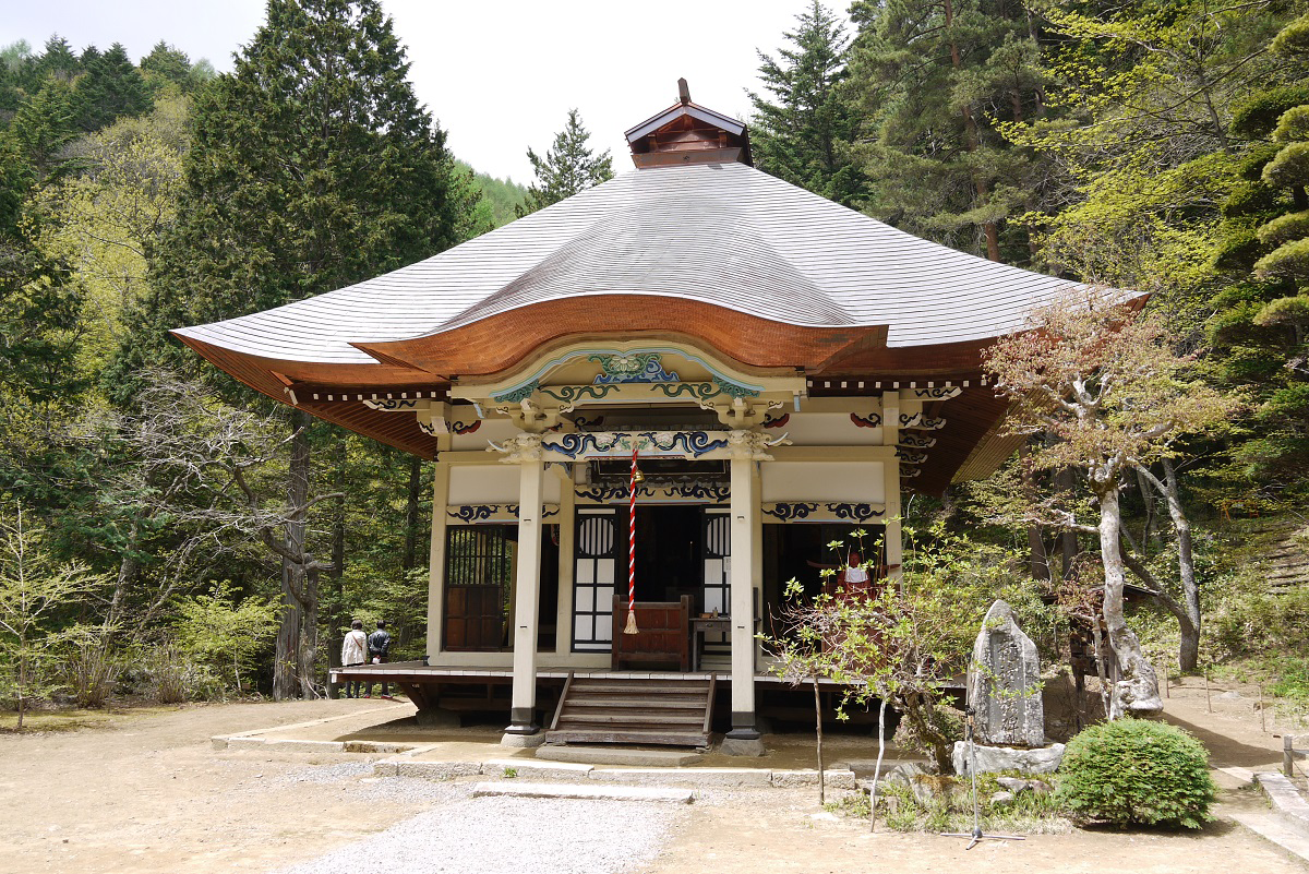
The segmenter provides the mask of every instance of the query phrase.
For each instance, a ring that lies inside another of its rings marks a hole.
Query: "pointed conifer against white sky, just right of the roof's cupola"
[[[750,150],[764,173],[847,207],[864,195],[863,173],[850,158],[859,115],[848,106],[843,82],[850,39],[822,4],[796,16],[792,47],[778,58],[759,52],[759,79],[771,99],[750,92],[754,118]]]

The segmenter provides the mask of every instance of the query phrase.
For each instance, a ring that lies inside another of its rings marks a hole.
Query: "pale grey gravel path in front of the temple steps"
[[[658,854],[685,806],[583,799],[471,798],[471,785],[439,784],[449,801],[380,835],[283,869],[406,874],[618,874]]]

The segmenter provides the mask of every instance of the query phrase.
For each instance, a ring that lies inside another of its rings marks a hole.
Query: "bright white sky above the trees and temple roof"
[[[631,167],[623,131],[673,105],[679,76],[696,103],[745,118],[745,89],[761,88],[755,48],[774,54],[808,4],[382,0],[453,152],[520,183],[531,181],[528,147],[545,153],[571,107],[619,173]],[[39,51],[58,33],[77,51],[122,42],[139,61],[164,39],[228,71],[263,10],[263,0],[0,0],[0,44]]]

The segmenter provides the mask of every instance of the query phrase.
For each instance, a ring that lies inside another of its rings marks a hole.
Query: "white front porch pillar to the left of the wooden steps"
[[[541,601],[541,450],[518,459],[518,569],[513,593],[513,697],[509,734],[535,734],[537,606]]]

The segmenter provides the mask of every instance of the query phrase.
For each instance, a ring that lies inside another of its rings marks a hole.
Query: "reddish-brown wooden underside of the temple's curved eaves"
[[[615,300],[615,297],[618,300]],[[888,349],[885,331],[873,328],[797,328],[744,313],[732,313],[698,301],[670,301],[648,296],[615,296],[550,301],[513,310],[444,335],[412,341],[360,344],[378,364],[325,364],[263,358],[178,336],[207,361],[274,400],[292,403],[332,424],[372,437],[420,458],[435,458],[437,441],[418,427],[412,415],[381,412],[361,403],[368,398],[444,398],[450,386],[445,374],[493,377],[520,365],[554,343],[585,336],[639,339],[687,338],[736,358],[749,368],[797,368],[810,379],[861,381],[865,389],[813,389],[814,395],[881,394],[876,381],[970,381],[962,396],[933,406],[929,416],[945,416],[946,427],[933,432],[936,446],[925,450],[922,475],[906,487],[940,493],[970,462],[973,475],[995,461],[999,444],[991,441],[987,458],[979,442],[992,432],[1005,410],[980,383],[978,362],[986,345],[953,343],[908,349]],[[603,300],[597,306],[597,301]],[[673,326],[673,315],[682,318]],[[994,467],[992,463],[992,467]]]

